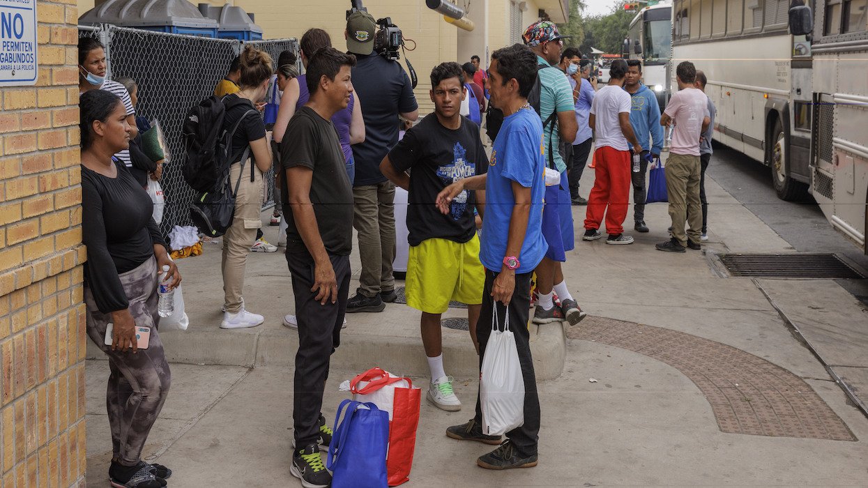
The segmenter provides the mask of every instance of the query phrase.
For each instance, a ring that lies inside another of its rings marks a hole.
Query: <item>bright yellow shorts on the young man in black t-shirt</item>
[[[425,313],[444,313],[450,300],[483,302],[485,268],[479,261],[479,237],[459,243],[426,239],[410,247],[405,294],[407,305]]]

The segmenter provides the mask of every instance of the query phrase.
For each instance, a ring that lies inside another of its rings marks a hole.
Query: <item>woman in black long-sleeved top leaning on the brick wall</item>
[[[181,274],[166,253],[150,197],[112,156],[129,147],[132,132],[121,98],[89,90],[79,108],[85,324],[109,358],[109,478],[118,488],[161,488],[171,470],[142,461],[141,449],[171,383],[157,332],[158,270],[168,266],[170,287]]]

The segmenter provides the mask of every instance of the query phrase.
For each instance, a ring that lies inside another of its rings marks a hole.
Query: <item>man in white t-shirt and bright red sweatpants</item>
[[[630,125],[630,95],[621,87],[627,74],[627,62],[617,59],[609,69],[608,85],[597,92],[591,103],[588,123],[595,131],[596,165],[594,188],[588,197],[588,214],[585,217],[585,234],[582,241],[596,241],[602,237],[600,224],[606,216],[607,244],[632,244],[633,236],[623,234],[624,219],[630,201],[631,179],[630,151],[633,144],[636,154],[641,145]],[[638,149],[636,149],[638,148]]]

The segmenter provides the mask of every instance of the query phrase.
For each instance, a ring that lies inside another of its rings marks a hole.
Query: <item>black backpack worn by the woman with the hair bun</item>
[[[233,161],[232,139],[235,131],[248,115],[257,114],[249,109],[235,122],[232,130],[223,127],[227,109],[237,102],[223,102],[209,96],[187,112],[184,136],[187,141],[187,162],[183,168],[184,180],[197,190],[190,205],[190,220],[202,234],[219,237],[226,234],[235,214],[235,197],[244,167],[250,156],[250,145],[241,154],[241,171],[233,188],[229,168]],[[198,150],[197,150],[198,149]],[[250,162],[250,181],[253,181],[253,162]]]

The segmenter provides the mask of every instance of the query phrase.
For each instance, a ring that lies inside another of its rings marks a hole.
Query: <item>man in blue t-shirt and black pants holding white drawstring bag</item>
[[[446,214],[452,200],[464,189],[485,190],[479,253],[485,267],[477,325],[480,366],[492,326],[502,328],[508,322],[515,334],[524,379],[524,424],[506,432],[506,442],[477,459],[477,465],[483,468],[503,470],[536,466],[540,405],[526,325],[530,274],[548,250],[542,237],[545,157],[542,122],[527,100],[536,79],[536,55],[519,44],[498,49],[491,55],[489,71],[490,103],[503,110],[503,126],[494,141],[488,173],[452,183],[437,195],[437,206]],[[477,401],[473,419],[449,427],[446,435],[484,444],[499,443],[500,436],[486,434],[481,401]]]

